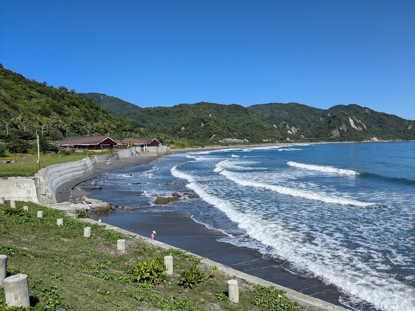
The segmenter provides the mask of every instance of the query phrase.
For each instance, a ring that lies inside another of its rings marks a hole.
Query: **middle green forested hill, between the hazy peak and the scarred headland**
[[[198,102],[173,107],[149,107],[139,109],[128,117],[134,126],[195,141],[247,138],[251,142],[262,142],[262,139],[275,140],[286,136],[280,129],[237,104]]]

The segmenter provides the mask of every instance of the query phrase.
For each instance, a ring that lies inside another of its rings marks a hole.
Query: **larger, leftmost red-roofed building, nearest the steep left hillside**
[[[118,145],[110,136],[66,137],[56,144],[63,148],[88,150],[112,149]]]

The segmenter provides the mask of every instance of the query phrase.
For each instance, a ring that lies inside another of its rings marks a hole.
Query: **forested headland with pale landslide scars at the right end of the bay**
[[[296,136],[319,141],[414,140],[415,121],[356,104],[318,109],[297,103],[248,107]]]

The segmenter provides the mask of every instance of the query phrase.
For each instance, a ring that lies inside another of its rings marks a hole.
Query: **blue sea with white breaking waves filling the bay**
[[[415,310],[414,142],[178,153],[129,173],[107,176],[117,204],[185,211],[223,231],[222,242],[336,287],[354,309],[366,301],[379,310]],[[172,192],[200,199],[155,206]]]

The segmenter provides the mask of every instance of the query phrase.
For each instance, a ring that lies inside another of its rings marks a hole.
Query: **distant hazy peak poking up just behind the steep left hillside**
[[[138,106],[130,102],[120,100],[114,96],[108,96],[100,93],[78,93],[78,95],[83,98],[92,98],[94,102],[99,104],[114,117],[125,117],[126,115],[129,115],[139,109]]]

